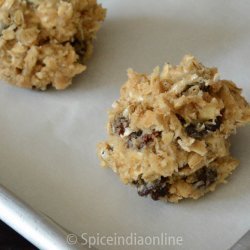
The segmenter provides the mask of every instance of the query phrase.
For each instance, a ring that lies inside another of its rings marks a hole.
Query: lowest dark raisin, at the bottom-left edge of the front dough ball
[[[150,195],[153,200],[159,200],[160,197],[164,197],[168,194],[169,183],[168,178],[161,177],[161,179],[154,181],[153,183],[146,183],[140,179],[133,184],[137,185],[138,194],[140,196]]]

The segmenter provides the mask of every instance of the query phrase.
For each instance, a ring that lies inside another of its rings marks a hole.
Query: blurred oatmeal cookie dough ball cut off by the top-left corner
[[[86,70],[104,17],[96,0],[0,0],[0,79],[65,89]]]

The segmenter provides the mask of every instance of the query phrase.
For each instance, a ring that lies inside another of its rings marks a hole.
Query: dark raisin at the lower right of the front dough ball
[[[217,179],[218,173],[216,169],[203,167],[196,171],[196,178],[198,184],[198,188],[200,187],[208,187],[213,184]]]

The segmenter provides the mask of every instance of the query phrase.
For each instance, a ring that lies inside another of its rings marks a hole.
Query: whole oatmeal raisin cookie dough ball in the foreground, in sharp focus
[[[154,200],[198,199],[225,183],[238,165],[228,138],[250,121],[241,90],[189,55],[128,78],[98,146],[102,166]]]

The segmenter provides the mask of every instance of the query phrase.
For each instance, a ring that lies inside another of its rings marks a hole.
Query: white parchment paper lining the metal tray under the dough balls
[[[250,228],[250,128],[232,138],[240,168],[227,185],[178,205],[141,198],[99,168],[106,110],[126,69],[151,72],[186,53],[218,66],[250,100],[248,0],[106,0],[87,73],[66,91],[0,84],[0,182],[79,235],[180,235],[182,249],[228,249]],[[116,246],[98,246],[117,249]],[[165,249],[138,247],[129,249]],[[168,249],[179,247],[169,246]],[[128,249],[120,246],[119,249]]]

